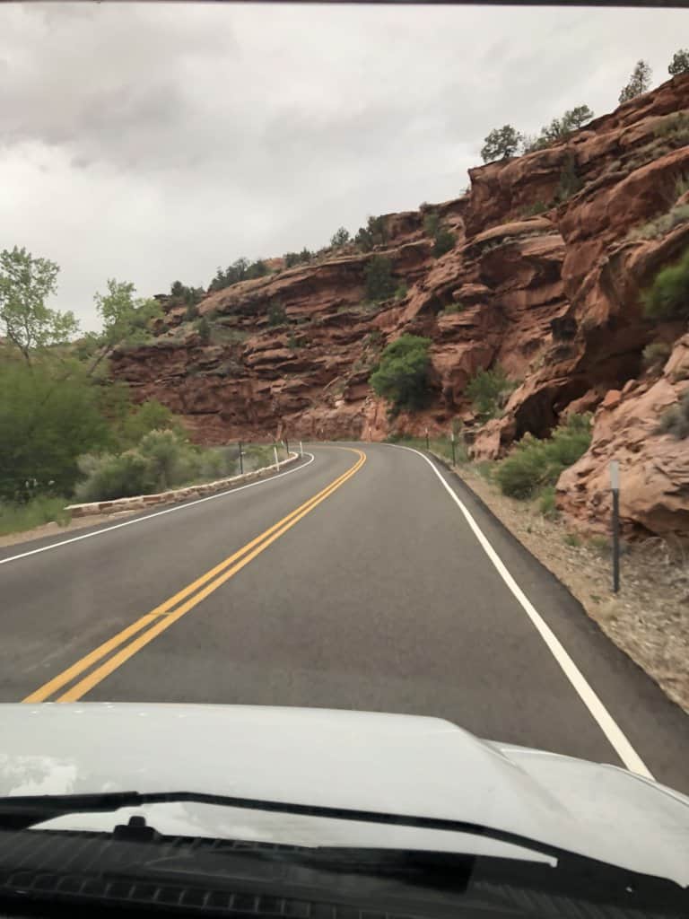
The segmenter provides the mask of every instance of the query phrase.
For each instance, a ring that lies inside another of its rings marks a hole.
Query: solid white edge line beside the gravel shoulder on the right
[[[521,589],[519,584],[516,583],[514,577],[508,571],[503,560],[492,548],[491,543],[483,534],[483,531],[479,527],[478,523],[469,513],[467,506],[459,500],[457,494],[453,492],[440,472],[437,471],[432,460],[428,459],[427,456],[424,456],[424,454],[419,450],[415,450],[411,447],[402,447],[401,444],[390,444],[389,446],[396,447],[398,449],[409,450],[411,453],[416,453],[417,456],[425,459],[431,469],[435,472],[435,475],[438,477],[440,482],[442,482],[447,494],[450,495],[459,510],[465,516],[474,536],[479,540],[481,548],[485,551],[486,555],[489,557],[497,569],[497,572],[503,578],[504,583],[507,584],[509,589],[512,591],[515,599],[524,609],[528,618],[531,619],[531,622],[536,627],[538,634],[548,645],[548,650],[552,653],[553,657],[558,662],[564,675],[569,679],[571,685],[579,695],[579,698],[582,699],[583,704],[591,712],[593,720],[597,722],[601,731],[604,732],[605,737],[607,737],[608,741],[612,744],[616,754],[619,756],[625,766],[627,766],[627,769],[629,769],[630,772],[635,772],[639,776],[653,779],[649,768],[643,762],[631,743],[629,743],[627,737],[622,732],[619,725],[616,723],[616,720],[614,720],[613,716],[605,708],[603,702],[595,694],[592,686],[589,684],[586,677],[582,674],[579,667],[574,664],[570,658],[569,653],[565,651],[559,639],[548,626],[548,623],[544,620],[540,613],[538,613],[537,609],[531,604],[531,601],[528,599],[528,597],[525,596],[524,591]]]

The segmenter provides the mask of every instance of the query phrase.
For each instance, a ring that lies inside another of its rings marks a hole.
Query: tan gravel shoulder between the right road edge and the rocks
[[[503,495],[469,465],[455,468],[516,539],[536,556],[601,630],[689,714],[689,556],[661,539],[624,545],[620,591],[612,590],[610,550],[584,541],[564,519]]]

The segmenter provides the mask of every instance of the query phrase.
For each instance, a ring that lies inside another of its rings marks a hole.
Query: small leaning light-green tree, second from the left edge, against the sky
[[[134,297],[131,281],[107,279],[107,293],[96,293],[96,312],[103,322],[97,335],[89,338],[96,356],[89,368],[92,374],[100,362],[121,345],[140,345],[151,335],[151,323],[162,316],[160,304],[152,298]]]

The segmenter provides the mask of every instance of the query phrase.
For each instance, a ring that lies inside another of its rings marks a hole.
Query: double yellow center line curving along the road
[[[174,596],[169,597],[160,606],[152,609],[150,613],[141,616],[126,629],[121,630],[117,635],[99,645],[95,651],[86,654],[76,664],[62,671],[62,674],[54,676],[48,683],[40,686],[39,689],[32,692],[23,701],[45,702],[51,699],[57,702],[75,702],[77,699],[84,697],[90,689],[93,689],[94,686],[104,680],[107,675],[117,670],[136,652],[141,651],[141,648],[145,647],[149,641],[152,641],[165,629],[169,629],[177,619],[182,618],[190,609],[196,607],[207,596],[218,590],[222,584],[225,584],[237,572],[241,571],[244,565],[247,565],[267,549],[271,543],[279,539],[288,529],[299,523],[303,516],[309,514],[314,507],[325,501],[341,485],[344,485],[344,482],[356,475],[356,472],[366,462],[366,455],[361,450],[354,449],[352,452],[358,456],[354,466],[351,466],[329,485],[326,485],[321,492],[314,494],[303,505],[295,508],[291,514],[278,520],[276,524],[266,529],[260,536],[252,539],[251,542],[247,542],[242,549],[234,552],[223,562],[211,568],[210,571],[202,574],[196,581],[188,584]],[[104,658],[107,658],[107,660],[103,661]],[[103,662],[102,664],[91,669],[101,661]],[[82,678],[78,679],[78,677]],[[77,679],[78,682],[74,683],[73,681]],[[64,686],[69,684],[73,685],[63,692],[61,696],[53,698]]]

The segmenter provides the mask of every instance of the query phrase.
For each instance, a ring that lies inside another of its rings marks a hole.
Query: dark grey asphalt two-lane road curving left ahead
[[[0,701],[429,714],[638,756],[689,792],[689,718],[461,482],[403,448],[310,449],[252,487],[0,550]]]

